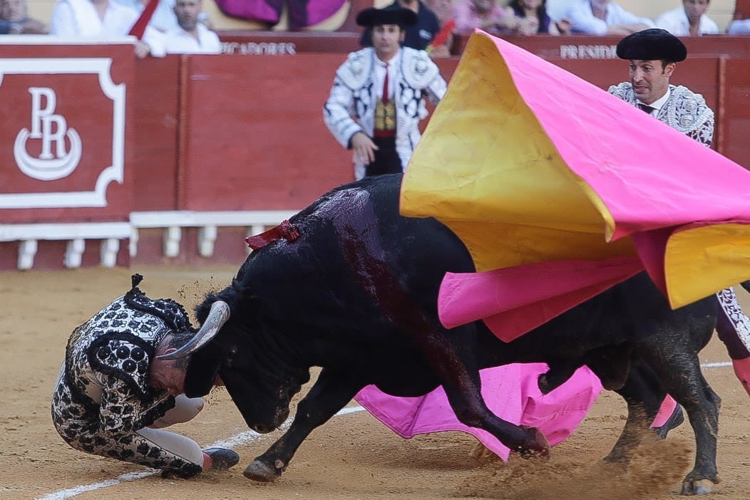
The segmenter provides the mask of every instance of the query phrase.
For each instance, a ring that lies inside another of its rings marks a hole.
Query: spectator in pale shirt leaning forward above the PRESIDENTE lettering
[[[610,0],[577,0],[568,7],[567,18],[577,34],[631,34],[655,26]]]

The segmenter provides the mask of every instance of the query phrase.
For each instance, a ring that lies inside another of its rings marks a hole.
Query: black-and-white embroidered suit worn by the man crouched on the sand
[[[137,275],[136,275],[137,276]],[[175,406],[148,385],[151,360],[170,331],[193,331],[180,304],[151,300],[136,288],[76,328],[52,396],[52,421],[71,447],[177,475],[200,472],[139,433]]]

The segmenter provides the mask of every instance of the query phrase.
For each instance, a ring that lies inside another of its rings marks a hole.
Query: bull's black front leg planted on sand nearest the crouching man
[[[323,369],[308,394],[297,405],[289,430],[263,455],[256,457],[243,472],[254,481],[275,481],[287,469],[292,457],[305,438],[325,424],[362,388],[351,373]]]

